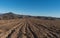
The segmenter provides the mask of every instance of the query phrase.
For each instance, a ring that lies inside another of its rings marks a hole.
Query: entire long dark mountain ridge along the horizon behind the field
[[[20,19],[20,18],[38,18],[38,19],[44,19],[44,20],[60,20],[60,18],[56,17],[46,17],[46,16],[29,16],[29,15],[18,15],[14,14],[12,12],[0,14],[0,20],[7,20],[7,19]]]

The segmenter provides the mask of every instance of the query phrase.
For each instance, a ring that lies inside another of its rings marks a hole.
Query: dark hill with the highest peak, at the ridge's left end
[[[9,12],[9,13],[5,13],[5,14],[1,14],[0,15],[0,19],[17,19],[19,18],[19,15],[17,14],[14,14],[12,12]]]

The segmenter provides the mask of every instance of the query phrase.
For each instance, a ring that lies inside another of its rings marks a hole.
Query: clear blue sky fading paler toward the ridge
[[[60,0],[0,0],[0,13],[60,17]]]

